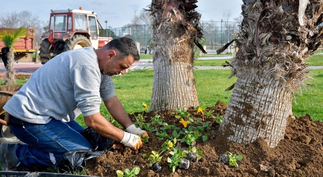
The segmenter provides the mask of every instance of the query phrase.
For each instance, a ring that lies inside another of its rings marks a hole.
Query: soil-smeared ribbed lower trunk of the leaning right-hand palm
[[[263,138],[273,148],[284,138],[292,98],[292,91],[278,82],[253,73],[238,78],[222,131],[229,141],[247,144]]]

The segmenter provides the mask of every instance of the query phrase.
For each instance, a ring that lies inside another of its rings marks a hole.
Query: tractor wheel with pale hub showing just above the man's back
[[[70,40],[66,41],[64,52],[90,46],[92,46],[90,39],[88,39],[84,35],[76,34]]]

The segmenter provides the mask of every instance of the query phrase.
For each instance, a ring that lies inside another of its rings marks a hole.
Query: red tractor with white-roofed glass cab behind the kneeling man
[[[41,63],[62,52],[92,46],[103,47],[112,37],[101,37],[104,31],[96,13],[80,9],[50,10],[49,29],[42,35]]]

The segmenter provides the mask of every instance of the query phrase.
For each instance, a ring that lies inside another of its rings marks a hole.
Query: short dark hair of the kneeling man
[[[135,42],[128,37],[115,38],[106,43],[103,48],[107,50],[116,49],[121,55],[120,57],[122,58],[131,55],[135,59],[135,61],[139,61],[140,59]]]

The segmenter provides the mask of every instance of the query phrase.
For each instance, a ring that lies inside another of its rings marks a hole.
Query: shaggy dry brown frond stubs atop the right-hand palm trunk
[[[243,0],[236,38],[234,72],[251,72],[296,91],[305,78],[306,59],[322,44],[323,1]]]

